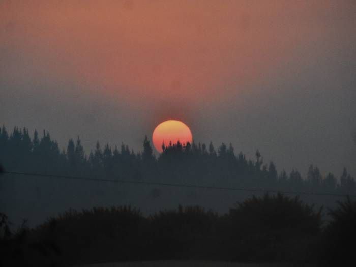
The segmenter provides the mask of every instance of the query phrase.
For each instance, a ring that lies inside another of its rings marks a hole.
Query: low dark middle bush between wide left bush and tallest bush
[[[161,211],[149,217],[151,259],[206,259],[214,251],[219,217],[199,206]]]

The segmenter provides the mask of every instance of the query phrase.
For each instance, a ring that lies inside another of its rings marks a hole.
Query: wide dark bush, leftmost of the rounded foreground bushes
[[[139,260],[145,220],[139,210],[126,206],[70,210],[51,218],[36,231],[55,240],[64,252],[66,264]]]

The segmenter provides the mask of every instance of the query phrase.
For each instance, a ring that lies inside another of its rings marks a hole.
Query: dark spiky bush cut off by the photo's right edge
[[[349,198],[330,210],[325,227],[321,266],[356,266],[356,201]]]

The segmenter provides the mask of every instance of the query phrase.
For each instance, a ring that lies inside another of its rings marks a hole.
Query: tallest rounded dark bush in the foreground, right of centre
[[[321,209],[303,204],[298,197],[277,194],[252,197],[230,210],[230,252],[236,261],[312,260]]]

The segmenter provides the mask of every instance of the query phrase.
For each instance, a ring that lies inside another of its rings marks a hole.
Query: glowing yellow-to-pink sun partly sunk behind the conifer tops
[[[178,140],[183,144],[187,142],[191,143],[193,140],[193,135],[189,127],[181,121],[168,120],[160,123],[152,134],[153,145],[160,153],[163,151],[163,143],[165,146],[168,146],[170,142],[176,144]]]

